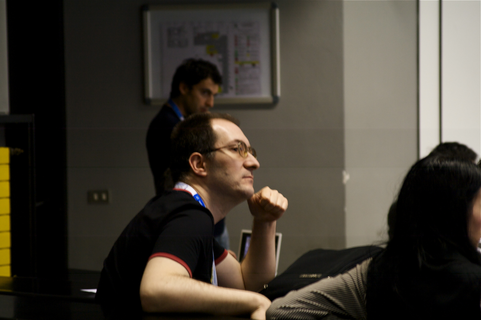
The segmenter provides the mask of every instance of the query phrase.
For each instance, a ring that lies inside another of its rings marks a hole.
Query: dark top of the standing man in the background
[[[147,131],[147,153],[153,174],[155,193],[160,196],[164,190],[174,187],[170,172],[165,172],[170,165],[170,135],[174,126],[180,121],[174,110],[165,104],[149,125]]]

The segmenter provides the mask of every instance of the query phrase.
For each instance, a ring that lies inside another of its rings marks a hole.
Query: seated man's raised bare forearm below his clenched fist
[[[276,222],[254,219],[249,251],[242,261],[242,277],[246,290],[259,291],[274,279],[276,273]]]

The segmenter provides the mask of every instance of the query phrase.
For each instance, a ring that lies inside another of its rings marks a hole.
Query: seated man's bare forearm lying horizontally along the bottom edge
[[[146,312],[202,312],[214,315],[253,314],[263,319],[270,301],[253,292],[215,287],[181,275],[142,283],[140,301]]]

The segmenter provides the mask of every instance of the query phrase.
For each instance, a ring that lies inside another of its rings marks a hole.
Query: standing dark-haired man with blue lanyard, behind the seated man
[[[174,187],[168,169],[172,129],[184,120],[184,117],[197,112],[207,112],[214,107],[214,97],[221,84],[222,76],[210,62],[188,59],[177,67],[172,79],[170,98],[153,118],[147,131],[147,153],[157,196]],[[229,249],[225,219],[215,225],[214,237],[221,246]]]

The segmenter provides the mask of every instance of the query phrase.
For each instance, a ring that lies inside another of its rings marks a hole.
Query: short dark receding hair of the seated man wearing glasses
[[[212,119],[225,119],[236,125],[239,120],[227,113],[194,113],[184,121],[177,123],[172,130],[172,153],[170,171],[174,182],[185,178],[190,172],[189,158],[194,152],[199,152],[207,159],[213,158],[215,141]]]

